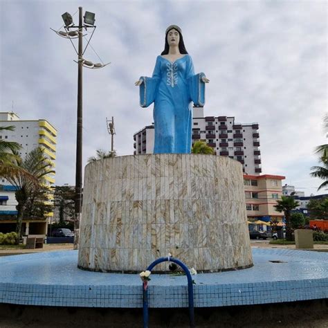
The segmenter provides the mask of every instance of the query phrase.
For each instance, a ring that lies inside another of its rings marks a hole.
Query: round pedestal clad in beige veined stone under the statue
[[[246,268],[253,265],[246,221],[242,165],[233,159],[107,158],[85,169],[78,266],[140,272],[171,253],[197,271]]]

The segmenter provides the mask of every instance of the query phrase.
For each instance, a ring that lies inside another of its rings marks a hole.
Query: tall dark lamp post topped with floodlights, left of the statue
[[[86,51],[87,46],[90,43],[91,37],[95,31],[95,14],[93,12],[85,12],[83,17],[82,7],[79,7],[79,24],[75,26],[73,24],[73,17],[69,12],[65,12],[62,15],[64,20],[65,31],[62,30],[53,30],[57,35],[70,39],[75,52],[78,54],[78,115],[77,115],[77,129],[76,129],[76,163],[75,163],[75,215],[74,215],[74,248],[78,248],[79,244],[79,230],[80,230],[80,219],[81,219],[81,207],[82,207],[82,69],[86,67],[88,69],[101,69],[107,64],[93,64],[90,61],[84,60],[83,55]],[[84,18],[84,24],[83,24]],[[83,50],[83,28],[93,28],[93,33],[89,38],[86,47]],[[73,30],[72,30],[73,29]],[[71,39],[78,38],[78,51],[72,42]],[[75,61],[76,62],[76,61]]]

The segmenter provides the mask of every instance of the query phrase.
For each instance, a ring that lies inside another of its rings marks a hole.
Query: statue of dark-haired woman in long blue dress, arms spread
[[[194,74],[192,58],[185,50],[181,28],[171,25],[165,32],[165,48],[156,59],[152,78],[141,77],[140,106],[154,102],[154,154],[190,154],[192,103],[203,106],[203,73]]]

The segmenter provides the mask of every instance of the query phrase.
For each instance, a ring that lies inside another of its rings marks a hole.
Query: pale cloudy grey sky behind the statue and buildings
[[[327,143],[327,1],[0,0],[0,111],[56,127],[57,185],[75,183],[78,65],[69,39],[51,28],[64,12],[78,23],[78,6],[97,26],[84,58],[111,62],[83,70],[83,166],[110,149],[111,116],[118,155],[133,154],[134,133],[153,122],[134,82],[152,75],[176,24],[195,72],[210,79],[205,116],[258,122],[262,174],[286,176],[306,195],[326,192],[309,172],[314,148]]]

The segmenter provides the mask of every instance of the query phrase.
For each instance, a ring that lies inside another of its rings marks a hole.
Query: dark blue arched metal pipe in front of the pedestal
[[[190,274],[188,266],[186,266],[179,259],[175,259],[174,257],[160,257],[156,259],[152,264],[150,264],[147,268],[148,271],[152,271],[152,268],[157,264],[162,262],[174,262],[178,264],[183,271],[185,271],[185,275],[187,275],[188,280],[188,301],[189,301],[189,320],[190,320],[190,328],[194,328],[194,286],[192,284],[192,276]],[[143,288],[143,327],[148,328],[148,294],[147,289]]]

